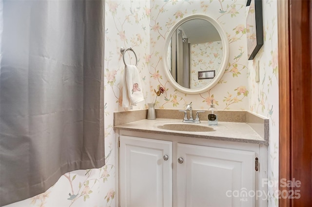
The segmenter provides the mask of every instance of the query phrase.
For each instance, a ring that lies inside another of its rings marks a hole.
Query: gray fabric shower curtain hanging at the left
[[[105,164],[105,9],[104,0],[0,3],[3,206]]]

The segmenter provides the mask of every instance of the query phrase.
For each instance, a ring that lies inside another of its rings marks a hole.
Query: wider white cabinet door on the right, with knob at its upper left
[[[176,171],[177,206],[254,207],[254,156],[251,151],[178,143],[177,159],[183,163]]]

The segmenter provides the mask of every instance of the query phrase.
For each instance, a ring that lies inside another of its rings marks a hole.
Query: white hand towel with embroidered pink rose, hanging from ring
[[[135,106],[144,100],[137,66],[126,65],[123,73],[122,106]]]

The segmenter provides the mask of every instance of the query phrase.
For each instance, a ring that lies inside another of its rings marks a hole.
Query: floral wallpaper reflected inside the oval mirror
[[[222,62],[222,42],[207,42],[191,45],[191,89],[201,88],[213,79],[198,79],[198,71],[215,70],[218,74]]]

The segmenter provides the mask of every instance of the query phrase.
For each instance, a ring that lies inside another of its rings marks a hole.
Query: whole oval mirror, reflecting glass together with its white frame
[[[200,94],[222,77],[229,59],[229,43],[219,23],[205,15],[181,19],[165,43],[168,80],[179,91]]]

